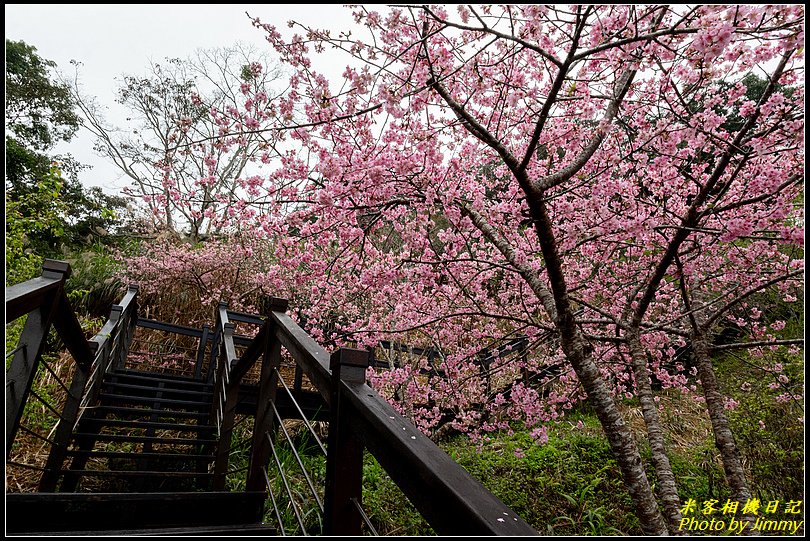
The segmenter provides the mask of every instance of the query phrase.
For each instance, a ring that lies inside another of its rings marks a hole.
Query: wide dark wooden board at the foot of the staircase
[[[264,498],[262,492],[6,493],[6,533],[258,526]]]

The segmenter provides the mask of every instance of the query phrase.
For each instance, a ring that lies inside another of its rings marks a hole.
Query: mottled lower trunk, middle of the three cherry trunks
[[[641,413],[647,427],[647,439],[650,441],[652,461],[655,466],[655,476],[658,479],[658,494],[664,504],[664,511],[669,520],[669,529],[673,534],[682,533],[679,530],[681,522],[681,501],[678,497],[678,487],[675,475],[667,456],[664,429],[658,416],[658,407],[653,397],[650,385],[650,372],[647,370],[647,354],[641,345],[638,329],[630,330],[627,335],[627,346],[633,360],[633,373],[636,378],[636,396],[641,402]]]

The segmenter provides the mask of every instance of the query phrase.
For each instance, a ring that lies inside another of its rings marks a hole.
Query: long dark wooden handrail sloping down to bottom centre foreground
[[[362,446],[368,448],[439,534],[538,535],[517,513],[484,488],[365,383],[367,352],[355,350],[343,355],[345,362],[348,362],[344,372],[351,376],[345,378],[341,374],[335,381],[326,350],[286,313],[273,311],[271,319],[276,328],[276,337],[307,374],[324,401],[330,408],[338,406],[335,400],[339,402],[341,412],[332,415],[332,423],[339,420],[347,426],[339,429],[330,423],[329,430],[330,434],[332,430],[340,430],[344,434],[335,440],[344,466],[347,460],[352,461],[348,456],[351,452],[347,455],[344,447],[356,447],[356,442],[362,442],[360,449]],[[357,358],[363,356],[365,365],[356,362]],[[347,439],[347,430],[354,436]],[[356,473],[356,468],[351,470]],[[343,481],[357,482],[356,479]],[[333,487],[335,483],[335,480],[331,480]],[[330,480],[327,480],[329,485]],[[345,487],[341,487],[341,490],[345,492]],[[335,527],[331,518],[327,519],[327,524]]]

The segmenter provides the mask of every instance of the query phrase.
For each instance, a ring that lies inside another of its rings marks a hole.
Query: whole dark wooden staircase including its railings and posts
[[[368,351],[330,355],[285,300],[265,317],[220,303],[214,326],[195,329],[140,317],[130,286],[87,340],[69,276],[46,260],[41,277],[6,289],[6,323],[27,316],[6,353],[6,534],[374,534],[364,449],[439,534],[536,534],[366,384]],[[136,339],[136,328],[173,337]],[[51,329],[70,354],[59,367],[43,355]],[[168,362],[175,347],[182,364]],[[317,445],[300,447],[288,419]],[[315,420],[328,422],[325,446]],[[24,474],[17,492],[9,471]]]

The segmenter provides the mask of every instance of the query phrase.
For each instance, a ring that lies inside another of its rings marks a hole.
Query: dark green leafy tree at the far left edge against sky
[[[39,255],[52,255],[59,244],[94,242],[113,227],[114,209],[124,206],[123,198],[81,185],[77,175],[86,166],[70,155],[52,154],[81,125],[70,88],[52,74],[55,67],[35,47],[6,40],[6,204],[14,205],[20,223],[40,224],[25,234],[27,249]],[[60,201],[58,209],[45,212],[32,204],[43,193]]]

